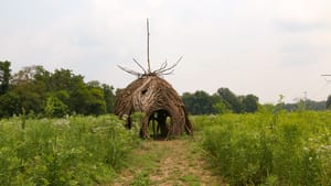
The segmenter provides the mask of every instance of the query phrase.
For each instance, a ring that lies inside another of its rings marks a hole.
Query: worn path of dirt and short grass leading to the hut
[[[213,174],[203,156],[203,151],[192,138],[143,141],[132,152],[129,166],[110,185],[225,185]]]

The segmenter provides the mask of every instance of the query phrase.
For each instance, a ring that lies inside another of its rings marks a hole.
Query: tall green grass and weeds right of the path
[[[231,185],[331,185],[331,112],[194,117]]]

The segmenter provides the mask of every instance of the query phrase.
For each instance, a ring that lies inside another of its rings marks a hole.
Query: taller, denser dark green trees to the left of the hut
[[[29,66],[11,74],[10,65],[0,62],[0,118],[113,112],[115,92],[109,85],[85,83],[82,75],[63,68],[51,73],[42,66]]]

